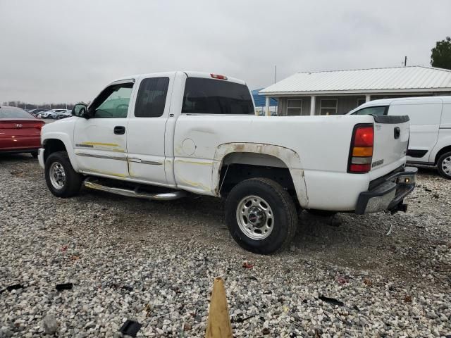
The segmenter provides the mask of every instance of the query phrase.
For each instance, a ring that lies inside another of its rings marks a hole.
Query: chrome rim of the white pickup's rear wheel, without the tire
[[[237,206],[237,223],[249,238],[260,241],[274,228],[274,215],[268,202],[259,196],[246,196]]]

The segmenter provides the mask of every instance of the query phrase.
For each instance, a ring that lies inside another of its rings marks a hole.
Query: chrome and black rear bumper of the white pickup
[[[402,207],[402,200],[415,188],[417,168],[406,167],[379,181],[376,187],[359,194],[355,213],[396,212]]]

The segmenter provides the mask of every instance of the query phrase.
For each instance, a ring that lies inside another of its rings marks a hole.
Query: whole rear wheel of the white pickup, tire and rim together
[[[226,201],[226,222],[235,242],[254,253],[273,253],[295,236],[296,206],[277,182],[252,178],[237,184]]]

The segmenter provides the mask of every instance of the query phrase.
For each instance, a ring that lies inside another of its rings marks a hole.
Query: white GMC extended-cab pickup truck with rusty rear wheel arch
[[[290,243],[297,209],[405,211],[415,185],[406,116],[256,116],[245,82],[223,75],[124,77],[73,115],[42,128],[52,194],[225,196],[230,234],[257,253]]]

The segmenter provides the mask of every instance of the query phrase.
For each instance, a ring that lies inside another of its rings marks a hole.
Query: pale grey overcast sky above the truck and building
[[[0,102],[90,101],[123,75],[202,70],[251,89],[299,71],[429,65],[451,1],[0,0]]]

